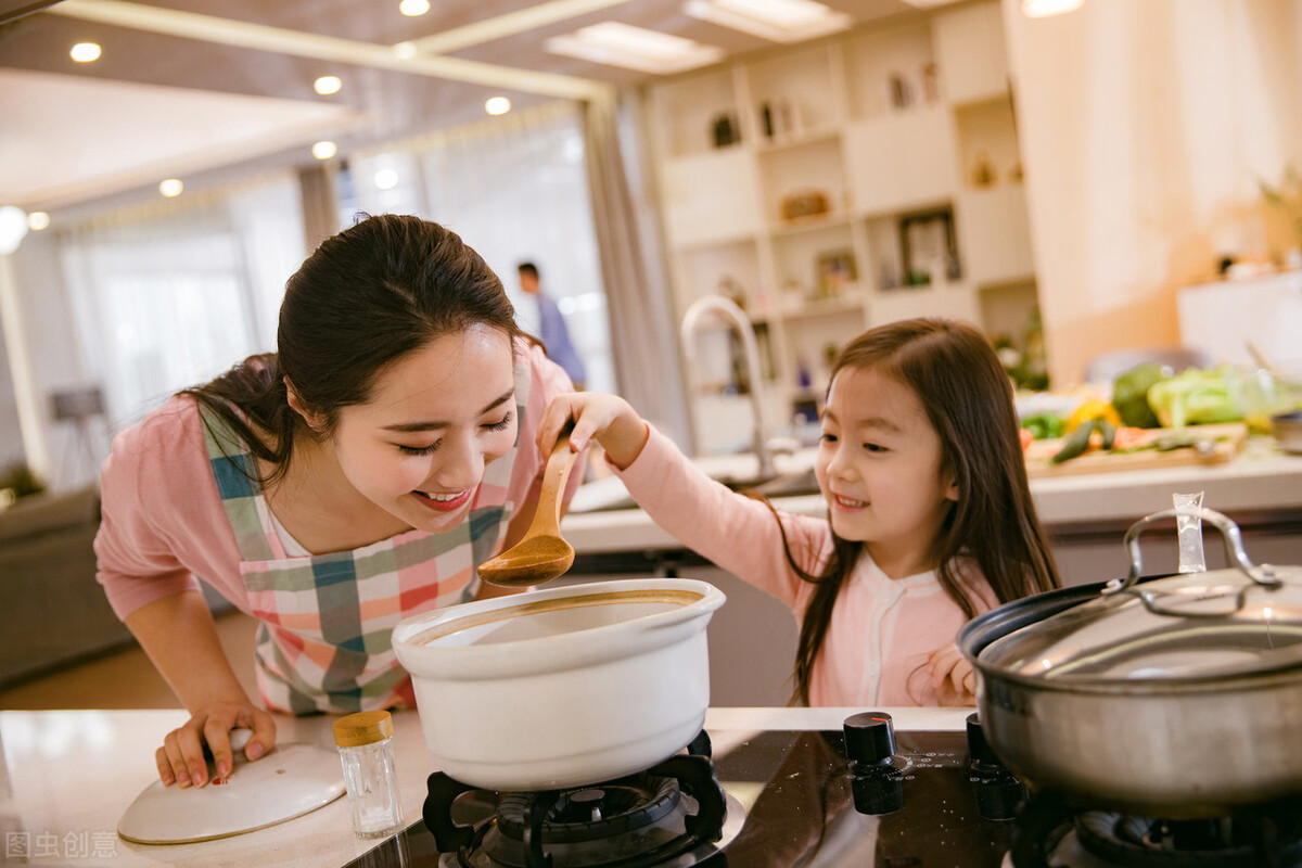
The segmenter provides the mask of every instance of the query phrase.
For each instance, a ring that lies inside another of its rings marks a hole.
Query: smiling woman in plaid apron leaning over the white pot
[[[207,782],[204,743],[228,774],[233,727],[254,730],[251,760],[276,738],[195,576],[260,621],[267,708],[414,705],[391,631],[467,599],[475,565],[527,527],[538,422],[570,388],[483,259],[417,217],[322,243],[289,278],[277,345],[125,431],[102,471],[98,578],[191,713],[158,751],[168,785]]]

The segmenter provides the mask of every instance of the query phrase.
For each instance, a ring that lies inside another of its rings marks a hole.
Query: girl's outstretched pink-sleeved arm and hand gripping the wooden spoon
[[[786,562],[783,528],[805,570],[816,571],[831,554],[825,521],[783,513],[779,526],[767,504],[710,479],[664,436],[652,440],[647,423],[622,398],[594,392],[557,397],[543,419],[539,444],[555,442],[569,419],[574,420],[570,448],[600,442],[629,493],[661,528],[788,605],[794,608],[809,586]]]

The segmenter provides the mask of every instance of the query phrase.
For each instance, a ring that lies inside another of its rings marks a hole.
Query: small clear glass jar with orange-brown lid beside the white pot
[[[335,744],[359,838],[383,838],[402,825],[402,799],[393,766],[393,716],[358,712],[335,721]]]

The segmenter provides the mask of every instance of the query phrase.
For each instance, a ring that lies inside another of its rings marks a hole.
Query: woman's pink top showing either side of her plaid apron
[[[523,350],[530,366],[529,403],[519,420],[516,459],[505,491],[480,493],[516,504],[538,498],[543,455],[534,444],[548,401],[569,392],[569,379],[542,349]],[[499,461],[506,461],[501,458]],[[582,481],[570,475],[569,495]],[[198,588],[202,576],[242,612],[249,599],[240,575],[240,548],[217,495],[199,413],[180,396],[113,439],[100,472],[103,518],[95,537],[96,578],[125,618],[164,596]],[[499,547],[500,547],[499,540]],[[467,547],[469,549],[469,547]],[[469,553],[465,582],[473,579]]]

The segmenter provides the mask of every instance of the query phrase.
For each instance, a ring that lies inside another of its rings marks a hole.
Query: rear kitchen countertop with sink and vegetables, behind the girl
[[[814,452],[803,449],[793,455],[779,455],[779,472],[812,467]],[[736,478],[754,474],[756,466],[750,454],[712,457],[698,463],[711,475]],[[1130,524],[1150,513],[1170,509],[1170,496],[1176,492],[1203,491],[1204,506],[1228,514],[1302,510],[1302,455],[1279,450],[1269,437],[1256,437],[1237,458],[1220,465],[1036,478],[1030,485],[1040,522],[1049,528]],[[626,492],[617,478],[589,483],[579,489],[573,510],[561,521],[561,534],[579,557],[682,548],[641,509],[577,511],[621,497],[626,497]],[[773,497],[772,501],[790,513],[827,515],[819,495]]]

